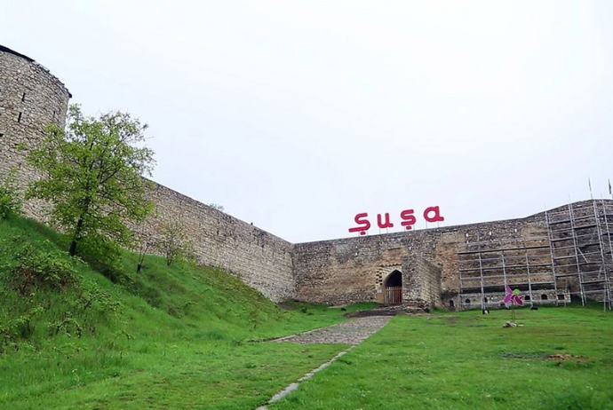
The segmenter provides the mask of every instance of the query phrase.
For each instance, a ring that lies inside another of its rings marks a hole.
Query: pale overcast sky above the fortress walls
[[[147,122],[157,182],[291,242],[609,197],[611,1],[3,0],[0,43]]]

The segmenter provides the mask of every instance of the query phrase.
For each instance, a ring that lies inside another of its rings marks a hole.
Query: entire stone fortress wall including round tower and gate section
[[[2,174],[16,168],[21,185],[36,177],[25,156],[48,123],[65,122],[70,97],[44,67],[0,46]],[[143,239],[155,243],[160,227],[177,223],[200,263],[227,270],[273,301],[473,309],[498,306],[506,284],[529,303],[613,299],[610,200],[521,219],[292,245],[163,185],[148,196],[154,215],[135,227]],[[42,219],[43,206],[29,202],[25,210]]]

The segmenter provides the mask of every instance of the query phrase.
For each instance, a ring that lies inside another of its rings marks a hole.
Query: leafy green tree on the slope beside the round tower
[[[52,219],[70,238],[76,255],[84,239],[109,238],[126,245],[126,221],[141,221],[153,209],[145,197],[154,165],[153,151],[142,146],[147,125],[130,114],[85,116],[70,106],[68,127],[47,127],[46,138],[28,155],[44,177],[28,187],[28,198],[51,201]]]

